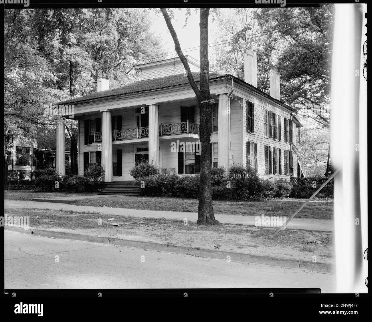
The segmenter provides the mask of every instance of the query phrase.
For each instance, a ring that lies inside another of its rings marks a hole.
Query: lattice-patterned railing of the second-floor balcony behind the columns
[[[192,133],[199,134],[199,124],[192,122],[180,122],[159,125],[159,136]],[[134,129],[122,129],[112,131],[112,140],[127,140],[148,137],[148,126]],[[94,132],[94,142],[102,142],[102,132]]]

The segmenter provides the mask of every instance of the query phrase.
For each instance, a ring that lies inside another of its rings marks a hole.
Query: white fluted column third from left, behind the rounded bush
[[[159,167],[159,107],[158,104],[148,106],[148,162],[154,160]]]

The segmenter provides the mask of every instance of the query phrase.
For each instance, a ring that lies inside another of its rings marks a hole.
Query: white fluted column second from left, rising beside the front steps
[[[111,134],[111,112],[102,112],[102,155],[101,165],[105,169],[105,182],[112,182],[112,134]]]

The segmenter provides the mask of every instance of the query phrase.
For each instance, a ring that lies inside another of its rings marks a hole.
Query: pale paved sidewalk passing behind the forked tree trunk
[[[52,209],[52,210],[73,210],[76,212],[98,212],[112,216],[135,216],[135,217],[150,217],[150,218],[167,218],[179,219],[187,218],[191,222],[198,220],[196,212],[174,212],[174,211],[155,211],[155,210],[139,210],[125,208],[110,208],[110,207],[92,207],[92,206],[75,206],[65,203],[49,203],[35,201],[20,201],[8,200],[4,201],[4,208],[21,208],[21,209]],[[273,214],[275,215],[275,214]],[[240,223],[242,225],[254,226],[256,216],[241,216],[241,215],[215,215],[216,219],[221,223]],[[334,231],[334,221],[330,219],[292,219],[286,226],[289,229],[306,229],[318,231]]]

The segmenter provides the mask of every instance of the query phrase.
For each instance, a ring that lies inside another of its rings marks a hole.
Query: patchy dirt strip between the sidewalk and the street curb
[[[115,218],[100,213],[52,212],[48,209],[6,209],[5,213],[29,216],[30,226],[39,229],[301,260],[313,260],[316,256],[318,262],[334,261],[332,232],[284,229],[275,238],[268,239],[276,229],[233,224],[198,226],[192,222],[184,225],[180,220]]]

